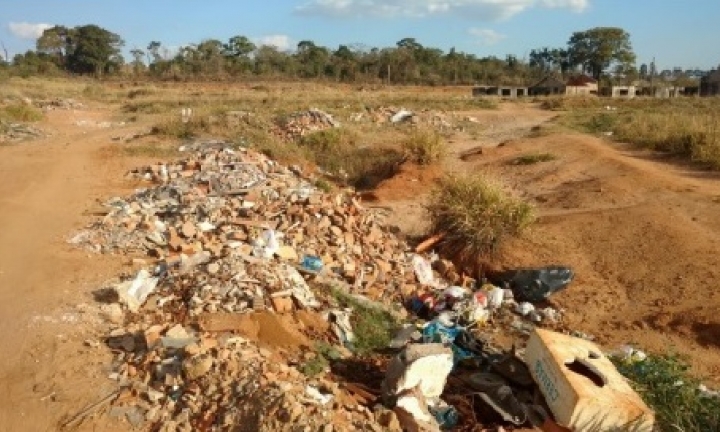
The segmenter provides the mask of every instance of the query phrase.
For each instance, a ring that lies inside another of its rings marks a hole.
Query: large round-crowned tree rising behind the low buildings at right
[[[630,34],[617,27],[596,27],[573,33],[568,41],[568,53],[571,64],[582,65],[595,79],[600,79],[611,65],[630,69],[635,63]]]

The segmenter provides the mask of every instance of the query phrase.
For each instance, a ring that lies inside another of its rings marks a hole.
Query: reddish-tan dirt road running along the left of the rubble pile
[[[103,156],[117,131],[75,124],[105,116],[51,112],[52,136],[0,146],[0,430],[57,430],[110,389],[94,367],[107,354],[82,343],[97,315],[77,305],[92,309],[87,293],[122,263],[65,240],[95,199],[123,188],[122,161]]]

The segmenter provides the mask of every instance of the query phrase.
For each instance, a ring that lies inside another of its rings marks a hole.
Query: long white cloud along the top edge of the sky
[[[295,11],[331,17],[427,17],[454,14],[483,21],[510,18],[540,6],[582,12],[590,0],[308,0]]]

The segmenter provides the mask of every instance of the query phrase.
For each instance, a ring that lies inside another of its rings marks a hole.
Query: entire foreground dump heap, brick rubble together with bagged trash
[[[552,412],[579,424],[563,410],[585,384],[562,381],[568,368],[554,363],[568,353],[602,367],[603,397],[623,395],[631,414],[645,414],[599,349],[537,329],[562,329],[561,311],[535,305],[570,283],[570,269],[476,283],[449,261],[410,250],[352,191],[320,192],[299,168],[221,141],[181,150],[181,161],[130,172],[147,187],[108,201],[102,217],[70,239],[141,267],[113,285],[116,298],[103,306],[114,323],[105,342],[119,388],[111,417],[162,431],[439,431],[461,415],[477,418],[472,403],[460,412],[441,395],[472,393],[499,416],[490,423],[537,426]],[[341,382],[334,370],[320,378],[301,372],[318,355],[303,338],[332,342],[338,359],[350,356],[356,338],[353,311],[339,309],[327,287],[403,305],[424,321],[391,342],[400,353],[382,385]],[[278,318],[300,313],[320,317],[326,330],[287,329]],[[274,351],[259,345],[261,325],[286,333]],[[492,346],[493,335],[513,331],[529,337],[526,350]],[[553,397],[557,386],[567,395]],[[615,414],[612,421],[625,412]]]

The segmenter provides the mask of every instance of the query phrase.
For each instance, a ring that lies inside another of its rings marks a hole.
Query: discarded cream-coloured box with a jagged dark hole
[[[652,431],[654,413],[592,342],[536,329],[525,355],[560,425],[575,431]]]

